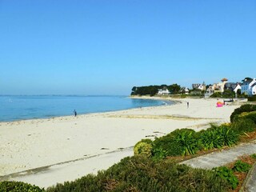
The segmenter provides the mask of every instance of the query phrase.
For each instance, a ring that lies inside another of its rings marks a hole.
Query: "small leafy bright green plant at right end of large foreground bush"
[[[223,179],[226,179],[230,183],[232,189],[235,190],[238,187],[238,178],[234,175],[233,171],[226,166],[220,166],[213,169],[217,175]]]

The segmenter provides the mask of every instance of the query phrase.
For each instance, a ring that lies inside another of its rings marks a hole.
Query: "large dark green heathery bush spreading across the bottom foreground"
[[[108,170],[65,182],[48,192],[83,191],[228,191],[229,183],[212,170],[193,169],[170,161],[123,158]]]

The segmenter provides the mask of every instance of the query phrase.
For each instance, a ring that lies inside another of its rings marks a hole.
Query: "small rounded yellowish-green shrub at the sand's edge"
[[[141,142],[137,142],[137,144],[134,146],[134,155],[144,155],[147,158],[150,158],[152,155],[152,142],[145,141],[146,139],[143,139]]]

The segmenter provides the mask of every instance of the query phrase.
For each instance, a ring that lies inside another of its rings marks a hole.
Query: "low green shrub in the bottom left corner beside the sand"
[[[42,192],[39,186],[32,186],[26,182],[0,182],[1,192]]]

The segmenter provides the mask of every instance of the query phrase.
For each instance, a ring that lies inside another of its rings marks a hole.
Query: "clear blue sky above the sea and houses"
[[[255,0],[0,0],[0,94],[256,78]]]

